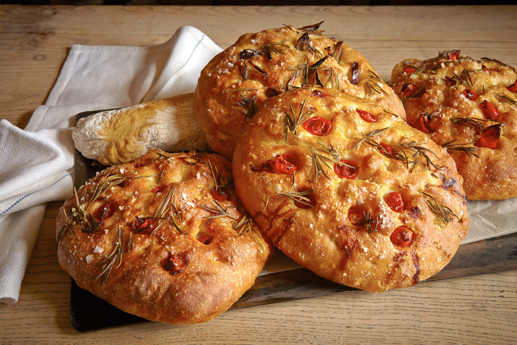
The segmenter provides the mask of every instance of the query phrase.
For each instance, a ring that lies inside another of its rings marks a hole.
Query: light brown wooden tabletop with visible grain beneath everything
[[[195,26],[225,48],[246,32],[324,20],[327,36],[365,55],[385,80],[407,57],[447,49],[517,66],[517,6],[0,7],[0,119],[23,128],[44,103],[73,43],[143,46]],[[143,323],[90,333],[69,319],[70,277],[47,211],[19,302],[0,305],[0,343],[493,343],[517,342],[517,271],[422,282],[234,309],[205,324]],[[102,312],[99,310],[99,312]]]

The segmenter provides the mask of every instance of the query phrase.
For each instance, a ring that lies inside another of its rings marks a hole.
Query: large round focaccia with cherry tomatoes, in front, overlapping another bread
[[[469,227],[445,148],[383,108],[327,89],[268,100],[240,136],[233,174],[273,245],[363,290],[429,278]]]

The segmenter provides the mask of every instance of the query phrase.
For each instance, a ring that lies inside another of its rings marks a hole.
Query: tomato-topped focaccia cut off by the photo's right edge
[[[490,58],[446,51],[393,68],[407,123],[447,148],[468,199],[517,196],[517,73]]]

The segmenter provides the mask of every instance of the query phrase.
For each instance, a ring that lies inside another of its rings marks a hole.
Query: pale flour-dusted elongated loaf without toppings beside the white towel
[[[193,115],[192,97],[179,95],[81,118],[72,132],[75,148],[106,166],[153,148],[204,150],[207,143]]]

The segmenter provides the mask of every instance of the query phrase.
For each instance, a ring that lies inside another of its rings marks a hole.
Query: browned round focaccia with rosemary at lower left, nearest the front
[[[115,307],[172,324],[211,320],[254,283],[269,241],[220,155],[159,150],[110,167],[57,216],[59,263]]]

